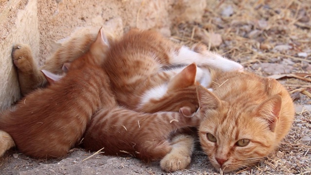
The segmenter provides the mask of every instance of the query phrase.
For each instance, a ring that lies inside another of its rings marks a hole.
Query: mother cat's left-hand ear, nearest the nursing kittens
[[[221,101],[216,97],[211,91],[207,88],[204,88],[202,85],[198,85],[196,88],[198,95],[199,105],[201,109],[217,109],[221,106]]]

